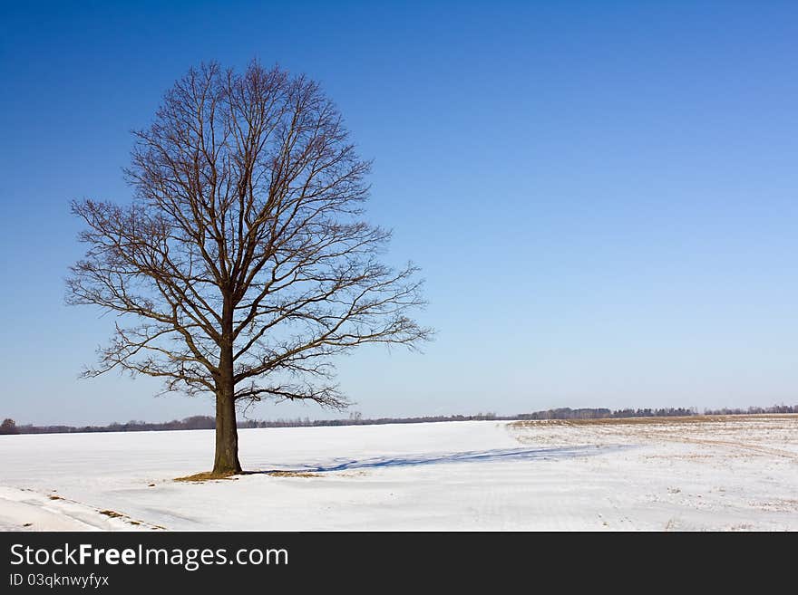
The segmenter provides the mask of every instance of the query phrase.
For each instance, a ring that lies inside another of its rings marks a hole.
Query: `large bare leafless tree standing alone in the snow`
[[[429,338],[408,316],[423,305],[417,269],[379,262],[390,232],[361,219],[370,164],[316,82],[203,64],[133,134],[131,202],[72,204],[87,252],[67,302],[120,318],[83,376],[215,395],[214,475],[241,471],[237,405],[345,408],[330,356]]]

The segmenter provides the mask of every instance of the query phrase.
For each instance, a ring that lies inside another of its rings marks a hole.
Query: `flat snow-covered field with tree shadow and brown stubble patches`
[[[798,416],[0,437],[6,530],[798,530]],[[271,471],[301,473],[268,474]]]

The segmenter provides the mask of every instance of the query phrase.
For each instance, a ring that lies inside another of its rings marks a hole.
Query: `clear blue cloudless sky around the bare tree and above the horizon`
[[[210,414],[78,380],[72,198],[192,64],[306,72],[375,159],[369,218],[437,340],[340,362],[364,417],[798,403],[798,4],[2,2],[0,417]],[[336,417],[261,405],[251,417]]]

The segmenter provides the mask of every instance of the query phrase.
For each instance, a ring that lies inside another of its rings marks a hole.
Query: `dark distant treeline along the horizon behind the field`
[[[798,413],[798,405],[774,405],[773,407],[749,407],[705,409],[703,415],[754,415],[763,413]],[[238,427],[326,427],[326,426],[379,426],[382,424],[420,424],[432,421],[472,421],[472,420],[524,420],[524,419],[601,419],[608,417],[674,417],[699,415],[696,408],[558,408],[533,413],[520,413],[516,416],[497,416],[495,413],[478,413],[472,416],[427,416],[427,417],[379,417],[364,419],[353,413],[345,419],[276,419],[243,420]],[[5,419],[0,426],[0,434],[63,434],[71,432],[144,432],[181,429],[213,429],[216,419],[209,416],[193,416],[173,419],[164,423],[151,424],[144,421],[129,421],[126,424],[113,423],[108,426],[16,426],[13,419]]]

